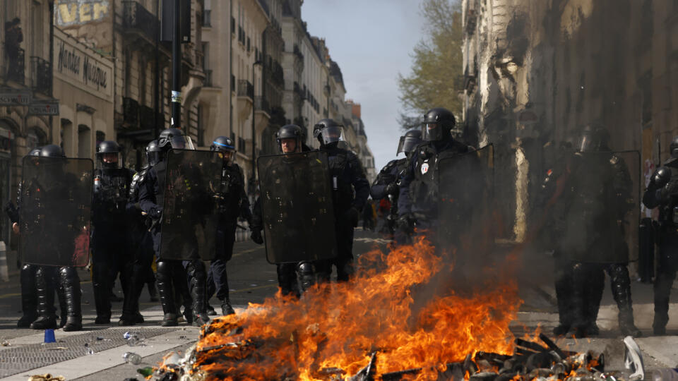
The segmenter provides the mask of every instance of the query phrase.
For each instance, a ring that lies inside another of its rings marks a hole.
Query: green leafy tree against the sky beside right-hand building
[[[458,92],[463,86],[461,4],[458,0],[424,0],[424,38],[412,52],[412,71],[398,75],[403,112],[400,126],[418,126],[421,115],[432,107],[445,107],[456,116],[462,111]]]

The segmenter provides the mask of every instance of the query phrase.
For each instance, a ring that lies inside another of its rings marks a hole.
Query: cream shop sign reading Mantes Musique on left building
[[[60,30],[54,31],[54,78],[81,87],[97,97],[112,99],[112,62]]]

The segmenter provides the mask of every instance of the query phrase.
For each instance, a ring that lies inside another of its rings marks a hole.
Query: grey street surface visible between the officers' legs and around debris
[[[374,246],[385,247],[382,236],[372,232],[356,231],[355,254],[365,253]],[[234,256],[229,264],[231,301],[238,312],[248,303],[261,303],[277,291],[275,266],[266,261],[263,246],[251,241],[236,243]],[[534,332],[540,327],[549,333],[557,324],[557,310],[552,284],[521,277],[521,298],[524,303],[518,313],[518,321],[512,327],[514,332]],[[198,328],[186,325],[162,328],[160,303],[150,302],[147,291],[141,296],[141,308],[145,322],[135,327],[118,327],[117,317],[121,313],[121,302],[113,304],[112,325],[95,325],[95,310],[90,275],[81,271],[83,289],[83,324],[81,332],[55,331],[57,342],[42,344],[44,332],[32,329],[17,329],[16,320],[20,315],[20,289],[18,273],[12,272],[9,282],[0,283],[0,380],[28,380],[30,375],[51,373],[63,375],[66,380],[124,380],[136,377],[143,380],[136,370],[156,365],[171,351],[183,353],[198,338]],[[548,278],[546,278],[548,279]],[[121,295],[119,282],[116,293]],[[669,336],[652,337],[653,316],[652,286],[634,282],[634,312],[636,325],[646,337],[637,339],[643,351],[646,368],[675,368],[678,365],[678,290],[672,293]],[[212,305],[219,311],[218,301]],[[559,344],[571,350],[605,351],[610,367],[621,368],[623,358],[622,337],[617,329],[617,306],[607,286],[598,317],[602,329],[595,339],[561,339]],[[126,331],[140,332],[145,339],[144,346],[128,346],[123,339]],[[139,365],[124,362],[127,351],[138,353],[142,358]],[[5,378],[2,378],[5,377]],[[649,378],[647,378],[649,379]]]

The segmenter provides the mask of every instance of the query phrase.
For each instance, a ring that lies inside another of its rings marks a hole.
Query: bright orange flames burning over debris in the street
[[[512,353],[509,323],[521,305],[515,282],[463,296],[446,286],[455,272],[423,238],[388,254],[372,250],[359,267],[350,282],[316,285],[300,301],[278,295],[251,303],[203,327],[194,374],[329,380],[374,362],[374,375],[423,368],[408,379],[434,380],[469,353]]]

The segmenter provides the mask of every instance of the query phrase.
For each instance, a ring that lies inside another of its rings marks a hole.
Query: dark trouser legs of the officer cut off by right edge
[[[655,276],[655,334],[665,334],[669,322],[669,297],[678,270],[678,233],[664,231],[659,245],[659,258]]]

